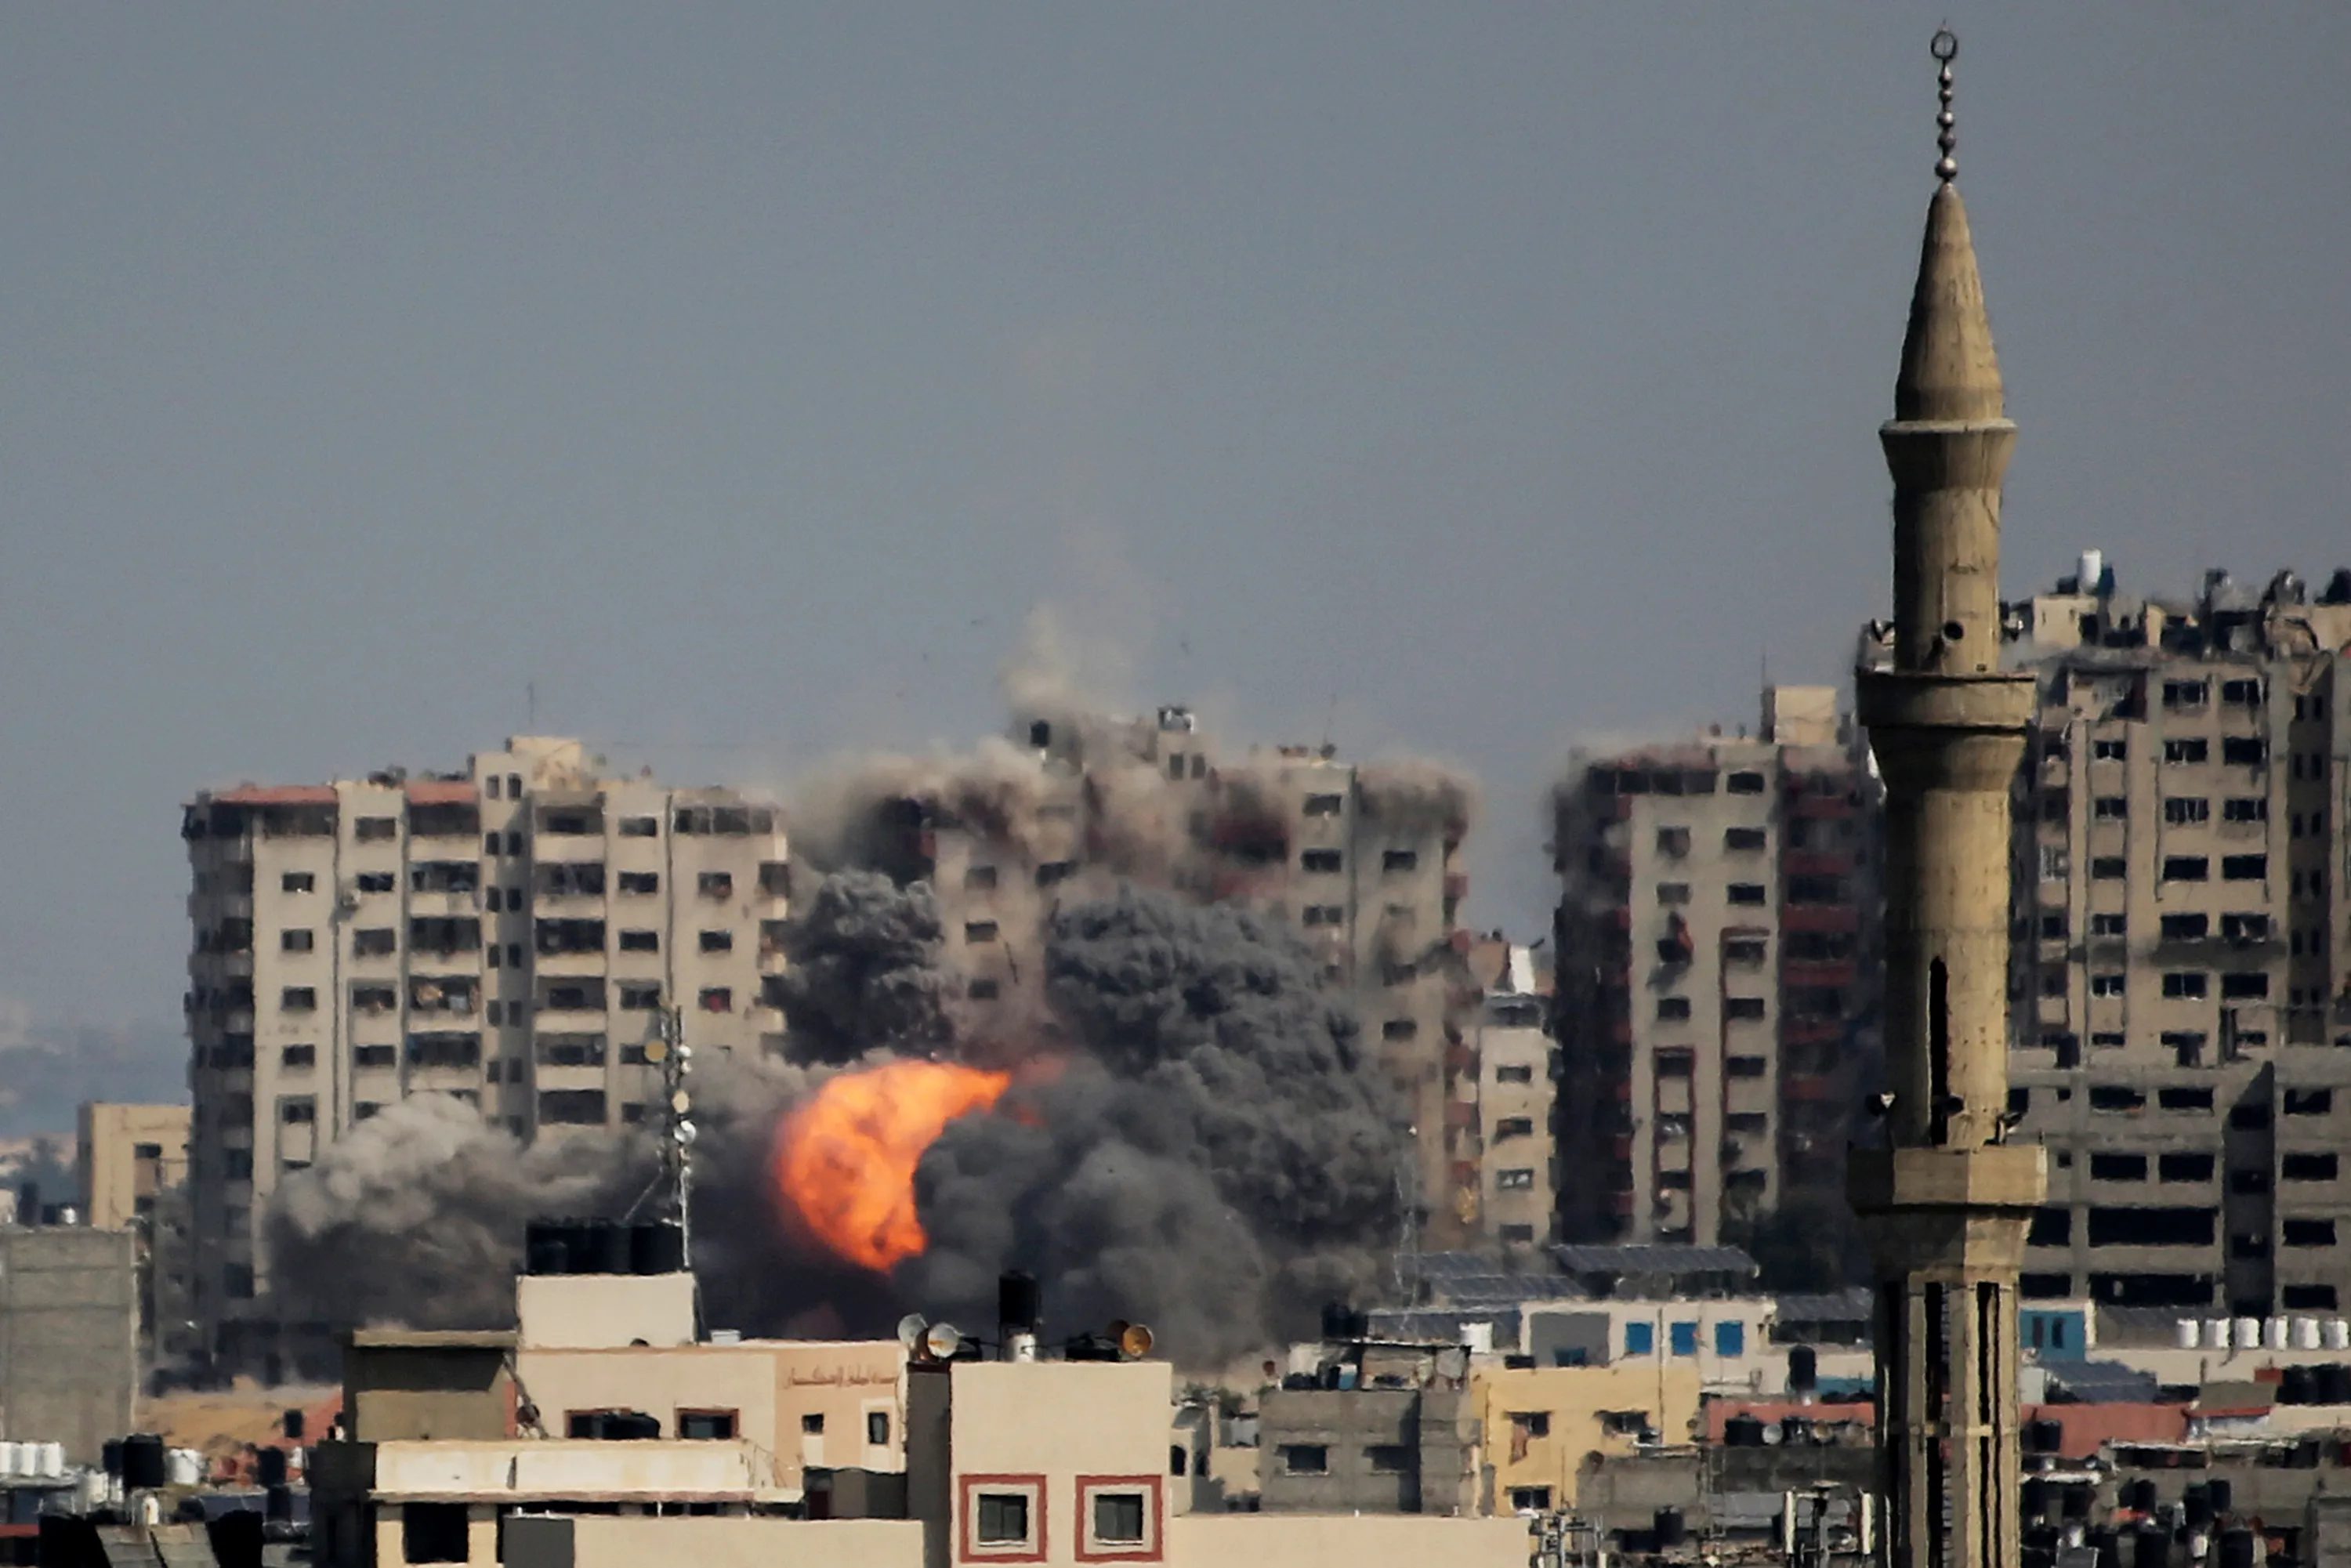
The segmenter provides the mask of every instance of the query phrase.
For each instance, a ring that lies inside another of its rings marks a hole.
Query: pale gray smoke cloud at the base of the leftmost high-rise
[[[618,1215],[654,1180],[642,1138],[524,1147],[463,1100],[418,1093],[350,1128],[273,1194],[280,1314],[329,1326],[510,1328],[522,1227]]]

